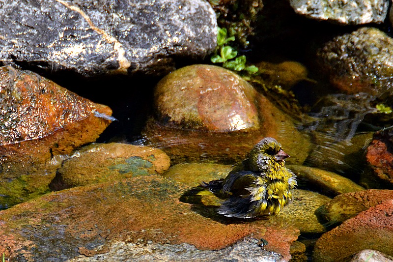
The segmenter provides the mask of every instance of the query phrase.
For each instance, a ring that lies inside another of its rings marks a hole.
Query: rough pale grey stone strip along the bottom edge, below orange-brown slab
[[[256,243],[255,243],[256,242]],[[232,246],[221,250],[199,250],[190,244],[153,244],[140,241],[138,243],[114,242],[105,254],[92,257],[79,256],[68,262],[96,262],[96,261],[198,261],[198,262],[284,262],[280,254],[263,250],[258,240],[245,238]],[[295,241],[296,242],[296,241]]]

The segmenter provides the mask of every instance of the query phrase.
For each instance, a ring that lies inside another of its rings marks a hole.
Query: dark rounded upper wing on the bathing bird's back
[[[229,173],[224,180],[223,192],[227,194],[231,193],[233,196],[249,193],[245,190],[253,184],[256,178],[257,175],[252,171]]]

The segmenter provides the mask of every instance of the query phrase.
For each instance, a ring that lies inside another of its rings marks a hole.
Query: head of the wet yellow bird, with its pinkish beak
[[[266,137],[259,141],[249,154],[249,167],[254,172],[268,172],[284,165],[284,159],[289,157],[282,150],[282,146],[277,140]]]

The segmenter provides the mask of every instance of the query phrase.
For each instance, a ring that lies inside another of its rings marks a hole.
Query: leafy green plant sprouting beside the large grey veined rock
[[[258,67],[255,65],[246,65],[246,56],[242,55],[236,57],[238,52],[231,46],[227,45],[234,41],[235,37],[227,37],[227,30],[225,28],[217,29],[217,48],[215,55],[210,58],[213,63],[223,63],[223,67],[232,71],[241,72],[246,71],[248,75],[258,72]],[[233,59],[234,58],[234,59]]]

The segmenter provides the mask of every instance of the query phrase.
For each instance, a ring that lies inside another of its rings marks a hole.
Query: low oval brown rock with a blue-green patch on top
[[[63,162],[57,171],[57,189],[162,174],[169,165],[169,157],[160,149],[120,143],[93,144]]]

